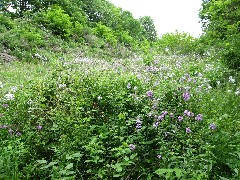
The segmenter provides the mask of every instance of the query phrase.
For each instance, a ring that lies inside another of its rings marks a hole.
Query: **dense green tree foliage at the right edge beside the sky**
[[[233,69],[240,68],[240,1],[203,1],[200,17],[208,44],[218,48],[223,61]]]

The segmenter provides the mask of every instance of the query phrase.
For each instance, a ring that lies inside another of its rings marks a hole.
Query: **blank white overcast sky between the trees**
[[[202,0],[108,0],[135,18],[151,16],[158,35],[166,32],[187,32],[194,37],[201,33],[198,10]]]

